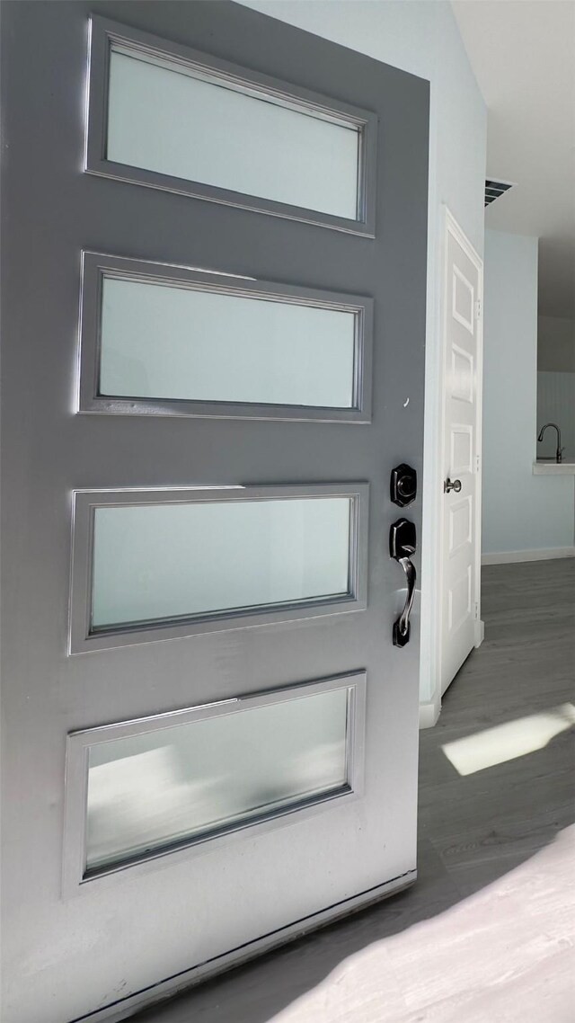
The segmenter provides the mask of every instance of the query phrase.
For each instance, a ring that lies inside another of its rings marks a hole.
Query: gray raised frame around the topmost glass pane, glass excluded
[[[89,35],[85,171],[120,181],[129,181],[132,184],[147,185],[151,188],[192,195],[195,198],[221,203],[225,206],[235,206],[275,217],[285,217],[290,220],[305,221],[352,234],[361,234],[366,237],[375,236],[378,144],[378,118],[375,114],[97,15],[90,16]],[[261,98],[267,98],[268,101],[273,99],[275,102],[293,108],[307,108],[311,115],[317,118],[335,121],[357,130],[359,133],[357,219],[336,217],[314,210],[290,206],[285,203],[246,195],[241,192],[108,161],[105,154],[105,144],[109,53],[113,44],[128,50],[131,49],[135,53],[139,52],[143,57],[147,55],[156,61],[164,57],[172,62],[179,62],[190,71],[196,72],[200,76],[216,74],[219,78],[227,79],[230,85],[233,84],[235,88],[244,87],[247,92],[259,94]]]

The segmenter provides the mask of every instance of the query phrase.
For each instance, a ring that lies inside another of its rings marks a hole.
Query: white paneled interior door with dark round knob
[[[445,221],[441,693],[483,638],[481,555],[482,263]]]

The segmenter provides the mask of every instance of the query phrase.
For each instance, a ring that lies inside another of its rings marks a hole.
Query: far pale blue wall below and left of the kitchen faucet
[[[537,238],[485,232],[483,552],[573,546],[573,477],[533,476]]]

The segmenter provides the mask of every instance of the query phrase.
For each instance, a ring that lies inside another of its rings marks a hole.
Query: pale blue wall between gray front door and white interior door
[[[436,614],[438,572],[439,365],[443,204],[483,255],[487,115],[451,5],[443,0],[245,0],[249,7],[428,79],[430,183],[426,362],[426,449],[422,537],[423,703],[439,708]],[[430,721],[431,723],[431,721]]]

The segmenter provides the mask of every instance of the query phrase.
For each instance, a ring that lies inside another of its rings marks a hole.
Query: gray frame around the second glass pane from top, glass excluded
[[[103,397],[99,395],[101,295],[103,278],[167,284],[218,295],[293,303],[300,306],[352,313],[355,317],[353,404],[350,408],[319,408],[301,405],[249,402],[187,401]],[[371,360],[373,349],[373,300],[358,295],[319,291],[291,284],[254,280],[191,267],[172,266],[147,260],[82,254],[80,313],[80,379],[77,411],[126,415],[179,415],[208,418],[255,418],[320,422],[371,421]]]

